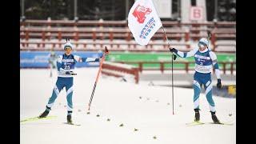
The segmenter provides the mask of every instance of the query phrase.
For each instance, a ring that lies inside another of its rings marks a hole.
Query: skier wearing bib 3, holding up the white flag
[[[190,52],[181,52],[175,48],[170,48],[170,52],[174,52],[181,58],[188,58],[194,56],[195,60],[195,73],[194,73],[194,111],[195,122],[200,120],[199,114],[199,95],[201,93],[201,87],[204,86],[206,90],[206,99],[210,106],[210,113],[214,123],[220,123],[215,112],[215,103],[212,98],[212,81],[211,70],[214,66],[216,77],[218,78],[217,88],[222,87],[220,70],[218,69],[217,56],[208,48],[209,42],[206,38],[201,38],[198,42],[198,47],[194,48]]]

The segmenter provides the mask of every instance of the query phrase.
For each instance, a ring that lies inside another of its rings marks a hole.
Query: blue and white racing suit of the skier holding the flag
[[[199,95],[201,93],[201,87],[204,86],[206,90],[206,99],[210,106],[210,111],[214,112],[215,103],[212,98],[212,82],[211,82],[211,70],[214,66],[215,74],[220,79],[220,70],[218,69],[217,56],[213,51],[206,48],[206,50],[200,51],[199,48],[195,48],[190,52],[184,53],[177,51],[177,54],[181,58],[188,58],[194,56],[195,60],[195,73],[194,73],[194,109],[199,109]]]

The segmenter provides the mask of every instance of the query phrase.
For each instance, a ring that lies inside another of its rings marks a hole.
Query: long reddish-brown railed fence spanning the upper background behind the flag
[[[180,45],[190,48],[190,40],[198,40],[207,37],[207,31],[212,33],[211,44],[212,50],[219,52],[234,53],[236,49],[235,42],[230,42],[229,46],[218,43],[218,40],[236,39],[236,22],[172,22],[163,21],[162,25],[166,28],[168,38],[178,40]],[[75,42],[84,39],[91,39],[94,42],[98,40],[110,40],[113,42],[117,39],[126,40],[126,46],[133,45],[134,38],[127,27],[126,21],[65,21],[65,20],[25,20],[20,22],[20,38],[22,50],[34,50],[37,47],[28,47],[31,39],[41,39],[42,49],[46,40],[52,39],[62,41],[64,38],[71,38]],[[154,37],[155,40],[162,40],[162,46],[165,46],[166,38],[160,29]],[[182,41],[181,41],[182,40]],[[24,45],[23,43],[27,44]],[[58,42],[55,42],[57,45]],[[131,43],[131,44],[129,44]],[[54,45],[54,44],[53,44]],[[152,44],[154,45],[154,44]],[[26,47],[24,47],[26,46]],[[126,47],[124,46],[124,47]],[[224,50],[222,47],[224,46]],[[84,46],[85,47],[85,46]],[[121,46],[123,47],[123,46]],[[152,46],[150,46],[152,47]],[[217,49],[216,49],[217,48]],[[135,48],[137,49],[137,48]],[[145,47],[144,47],[145,49]],[[115,50],[115,49],[114,49]],[[121,49],[122,50],[122,49]],[[160,51],[162,49],[159,49]],[[158,49],[156,50],[158,51]]]

